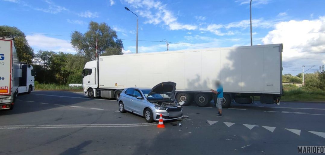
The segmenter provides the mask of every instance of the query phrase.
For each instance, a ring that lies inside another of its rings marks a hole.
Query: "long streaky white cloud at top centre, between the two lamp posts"
[[[162,4],[160,1],[154,0],[125,0],[126,3],[131,5],[133,8],[136,8],[136,13],[139,16],[147,18],[144,22],[145,24],[162,24],[168,26],[170,30],[195,30],[198,27],[191,24],[181,24],[177,21],[177,18],[174,14],[167,9],[165,4]]]

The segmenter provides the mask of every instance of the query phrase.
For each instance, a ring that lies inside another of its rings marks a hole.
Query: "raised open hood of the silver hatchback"
[[[162,82],[162,83],[159,83],[156,86],[154,86],[151,89],[148,96],[150,96],[152,94],[166,94],[172,100],[174,100],[175,90],[176,90],[176,83],[174,83],[174,82]]]

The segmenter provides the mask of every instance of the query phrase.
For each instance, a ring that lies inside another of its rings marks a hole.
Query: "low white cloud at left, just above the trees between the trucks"
[[[70,40],[47,37],[45,35],[27,35],[28,44],[34,50],[52,50],[55,52],[75,53]]]

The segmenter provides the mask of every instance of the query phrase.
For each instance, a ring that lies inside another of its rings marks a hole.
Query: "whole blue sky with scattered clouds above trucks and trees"
[[[283,43],[283,73],[316,65],[307,71],[313,72],[325,64],[324,0],[252,4],[253,45]],[[124,7],[139,16],[139,40],[166,39],[173,42],[170,50],[250,45],[249,0],[0,0],[6,12],[0,25],[25,32],[35,51],[73,53],[71,32],[84,33],[90,21],[107,23],[121,39],[135,39],[136,16]],[[125,54],[135,52],[135,41],[123,40],[123,45]],[[149,41],[139,41],[138,47],[139,52],[167,49],[166,43]]]

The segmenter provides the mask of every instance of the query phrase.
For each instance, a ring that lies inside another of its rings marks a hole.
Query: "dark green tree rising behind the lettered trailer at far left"
[[[34,50],[29,46],[26,36],[22,31],[16,27],[3,25],[0,26],[0,36],[14,38],[19,61],[32,63]]]

